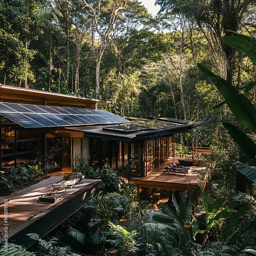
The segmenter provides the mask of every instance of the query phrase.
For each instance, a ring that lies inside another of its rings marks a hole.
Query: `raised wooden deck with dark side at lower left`
[[[49,187],[42,187],[15,200],[8,201],[7,220],[5,220],[5,204],[0,205],[0,230],[2,234],[8,228],[8,242],[31,246],[34,241],[27,233],[38,233],[45,236],[53,228],[74,214],[82,205],[98,193],[99,180],[83,179],[73,188],[58,191],[59,200],[54,203],[38,201],[40,196],[51,193]],[[55,193],[56,194],[56,193]],[[8,196],[6,197],[8,199]],[[36,215],[27,220],[28,217]]]

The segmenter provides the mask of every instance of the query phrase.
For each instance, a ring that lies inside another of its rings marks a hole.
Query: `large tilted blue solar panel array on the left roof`
[[[104,110],[62,108],[0,102],[0,115],[25,128],[90,124],[116,124],[130,121]]]

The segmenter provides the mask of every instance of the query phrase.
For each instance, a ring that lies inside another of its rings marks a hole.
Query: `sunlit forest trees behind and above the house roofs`
[[[1,1],[0,82],[110,100],[122,116],[196,120],[223,100],[198,62],[238,90],[253,80],[222,37],[254,36],[255,1],[155,4],[153,17],[137,0]]]

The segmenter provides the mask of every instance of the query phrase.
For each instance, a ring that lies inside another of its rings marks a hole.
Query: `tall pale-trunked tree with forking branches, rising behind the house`
[[[112,37],[113,30],[121,13],[125,8],[127,0],[107,0],[101,3],[101,0],[89,4],[88,1],[83,0],[84,6],[89,8],[93,14],[93,52],[96,57],[96,94],[100,94],[100,61],[102,55]],[[94,47],[95,33],[101,39],[99,49]]]

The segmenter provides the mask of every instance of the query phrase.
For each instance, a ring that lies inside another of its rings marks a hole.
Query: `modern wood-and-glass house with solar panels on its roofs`
[[[144,179],[175,157],[175,134],[190,132],[196,123],[168,117],[127,119],[98,109],[108,103],[0,85],[0,170],[37,160],[52,164],[56,172],[71,168],[72,157],[78,156],[95,168],[111,166],[139,190],[159,186],[172,189],[170,177],[161,185]],[[193,187],[191,199],[196,200],[197,181],[183,181],[175,189]],[[184,182],[192,182],[192,186],[184,186]]]

